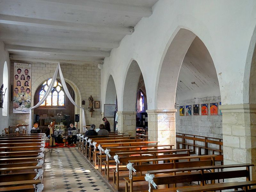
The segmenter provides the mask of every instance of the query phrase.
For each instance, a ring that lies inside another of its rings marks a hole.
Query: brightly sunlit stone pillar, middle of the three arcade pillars
[[[173,144],[176,146],[175,113],[177,109],[147,110],[148,139],[160,141],[159,144]],[[175,148],[175,147],[173,147]]]

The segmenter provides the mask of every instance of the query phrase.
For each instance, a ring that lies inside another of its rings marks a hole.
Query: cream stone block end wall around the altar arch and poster
[[[45,63],[45,62],[30,62],[30,61],[12,61],[10,67],[10,84],[13,84],[13,74],[14,62],[19,63],[28,63],[32,64],[31,69],[31,94],[32,94],[32,104],[34,103],[34,94],[36,92],[37,87],[42,84],[46,79],[51,78],[56,67],[57,63]],[[81,101],[85,100],[85,105],[82,105],[85,109],[85,118],[86,124],[95,124],[96,127],[99,127],[102,121],[101,109],[94,109],[95,111],[92,113],[92,117],[90,112],[88,111],[88,98],[92,95],[94,100],[100,100],[100,69],[97,65],[89,65],[89,64],[60,64],[62,73],[64,78],[68,81],[68,83],[72,86],[73,89],[75,87],[75,94],[78,94],[78,103],[80,105]],[[77,102],[77,101],[76,101]],[[102,103],[101,103],[102,104]],[[13,103],[10,103],[10,126],[20,124],[20,123],[28,123],[29,114],[13,114],[12,112]],[[101,107],[101,106],[100,106]],[[77,109],[75,114],[79,114],[81,110]],[[80,116],[82,112],[80,113]],[[81,128],[81,126],[80,126]]]

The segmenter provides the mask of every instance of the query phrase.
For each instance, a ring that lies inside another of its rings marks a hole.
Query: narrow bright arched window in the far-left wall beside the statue
[[[7,67],[7,62],[5,61],[4,62],[4,71],[3,71],[4,75],[3,75],[3,84],[4,84],[4,90],[3,92],[5,91],[6,87],[6,92],[5,92],[5,95],[4,95],[4,103],[3,103],[3,116],[7,116],[8,114],[8,79],[9,79],[9,76],[8,76],[8,67]],[[0,85],[1,86],[1,85]]]

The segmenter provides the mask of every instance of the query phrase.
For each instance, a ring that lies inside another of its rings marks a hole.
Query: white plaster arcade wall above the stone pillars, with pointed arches
[[[203,41],[212,56],[222,104],[243,103],[244,67],[255,23],[256,2],[253,0],[159,0],[153,7],[153,14],[140,20],[135,32],[125,36],[120,46],[105,58],[101,70],[101,98],[105,98],[111,74],[116,84],[118,110],[123,110],[125,77],[134,59],[144,77],[148,109],[157,108],[157,75],[164,52],[178,30],[186,28]]]

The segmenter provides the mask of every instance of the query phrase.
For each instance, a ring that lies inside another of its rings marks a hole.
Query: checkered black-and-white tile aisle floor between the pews
[[[54,149],[45,156],[43,192],[110,192],[77,148]]]

